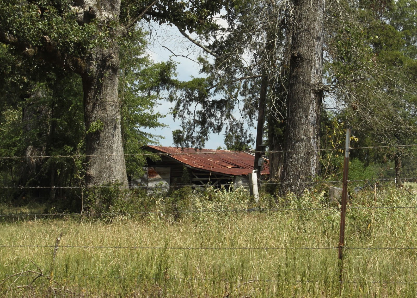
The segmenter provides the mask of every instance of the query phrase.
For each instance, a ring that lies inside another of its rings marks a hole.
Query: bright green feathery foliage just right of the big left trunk
[[[157,99],[161,98],[164,80],[170,76],[174,65],[154,63],[146,55],[145,33],[141,30],[132,32],[135,41],[121,46],[119,98],[121,99],[121,117],[123,145],[126,156],[128,175],[141,172],[146,159],[139,154],[146,153],[141,147],[158,144],[161,136],[143,132],[143,128],[163,128],[159,119],[165,117],[154,112]]]

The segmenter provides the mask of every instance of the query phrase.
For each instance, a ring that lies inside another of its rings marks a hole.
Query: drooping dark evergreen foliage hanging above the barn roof
[[[275,85],[280,84],[277,73],[284,64],[280,51],[287,32],[287,9],[284,2],[229,1],[224,3],[226,13],[221,16],[227,28],[213,26],[210,35],[197,31],[208,43],[206,52],[211,56],[197,59],[206,77],[177,84],[178,95],[170,97],[182,127],[173,132],[175,144],[203,147],[209,133],[224,131],[226,147],[248,149],[254,141],[248,126],[256,122],[261,74],[265,72],[271,85],[267,101],[276,116]],[[276,26],[281,22],[283,26]],[[268,38],[274,40],[271,50],[265,50]],[[276,114],[279,112],[283,111]]]

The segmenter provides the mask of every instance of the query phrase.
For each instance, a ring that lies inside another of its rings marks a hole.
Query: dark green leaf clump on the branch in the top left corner
[[[4,16],[0,27],[33,46],[43,46],[46,34],[57,50],[87,56],[95,47],[108,47],[110,42],[110,32],[100,30],[100,22],[92,20],[80,26],[66,2],[8,1],[2,2],[0,9]]]

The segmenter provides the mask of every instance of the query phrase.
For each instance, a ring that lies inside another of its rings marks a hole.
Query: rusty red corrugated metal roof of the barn
[[[171,158],[176,159],[182,164],[191,168],[213,171],[215,173],[227,175],[247,175],[254,168],[255,157],[247,152],[213,150],[213,149],[194,149],[180,147],[160,147],[146,146],[151,151],[167,153]],[[268,159],[265,159],[262,175],[269,175]]]

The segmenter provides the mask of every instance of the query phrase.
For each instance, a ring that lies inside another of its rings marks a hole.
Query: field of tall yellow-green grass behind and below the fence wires
[[[156,201],[156,210],[163,210],[163,201]],[[219,191],[192,194],[186,209],[252,206],[244,192]],[[417,195],[386,188],[377,191],[376,200],[374,191],[362,192],[349,206],[417,206]],[[271,208],[271,203],[261,202],[261,207]],[[315,192],[272,207],[324,209],[15,222],[4,217],[0,295],[416,297],[417,250],[404,249],[417,247],[415,208],[348,209],[340,292],[340,214],[337,208],[327,209],[337,204],[327,204],[324,194]],[[55,238],[61,232],[52,265]],[[40,271],[43,276],[32,283]],[[13,276],[16,273],[22,274]]]

